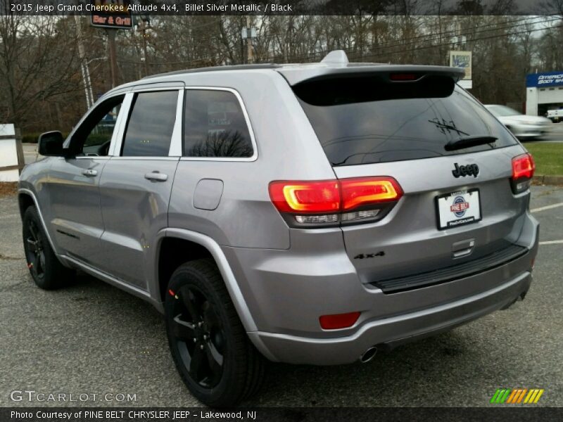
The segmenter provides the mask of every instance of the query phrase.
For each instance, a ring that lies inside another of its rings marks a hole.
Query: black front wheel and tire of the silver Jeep
[[[35,284],[44,290],[67,286],[73,279],[74,271],[56,257],[34,206],[27,207],[23,214],[22,233],[27,268]]]

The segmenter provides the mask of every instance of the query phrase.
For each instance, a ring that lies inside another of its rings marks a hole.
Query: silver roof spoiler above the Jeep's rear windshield
[[[461,68],[425,65],[375,65],[372,63],[348,63],[344,66],[296,65],[275,69],[293,86],[301,82],[313,82],[339,77],[365,77],[374,75],[390,82],[416,82],[426,76],[451,77],[455,82],[464,77]]]

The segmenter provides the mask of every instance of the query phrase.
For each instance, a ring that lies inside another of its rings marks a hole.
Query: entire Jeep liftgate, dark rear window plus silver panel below
[[[450,274],[464,263],[472,264],[461,268],[479,268],[519,252],[510,248],[524,224],[533,162],[525,158],[530,172],[519,168],[524,182],[511,184],[512,160],[526,151],[455,85],[455,75],[438,70],[386,67],[292,87],[341,186],[349,183],[343,179],[369,184],[386,177],[403,191],[398,201],[370,203],[369,193],[357,190],[353,195],[367,198],[357,209],[371,219],[341,217],[363,283],[397,286],[410,276],[408,290],[417,274],[429,274],[429,285],[438,282],[432,271]],[[380,209],[374,216],[369,207]]]

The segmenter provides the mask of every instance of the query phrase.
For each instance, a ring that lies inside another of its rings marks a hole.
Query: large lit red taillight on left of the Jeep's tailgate
[[[327,226],[384,217],[403,190],[392,177],[272,181],[270,198],[292,226]]]

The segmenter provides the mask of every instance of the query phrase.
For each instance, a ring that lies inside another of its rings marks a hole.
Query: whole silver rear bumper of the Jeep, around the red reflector
[[[393,348],[447,331],[510,306],[526,293],[539,226],[529,212],[522,217],[516,243],[528,250],[524,255],[470,276],[393,294],[362,284],[328,229],[326,239],[311,238],[316,253],[308,255],[301,250],[223,250],[258,328],[248,336],[265,357],[291,364],[346,364],[374,345]],[[299,244],[312,248],[306,237]],[[320,315],[353,311],[361,312],[354,326],[320,328]]]

